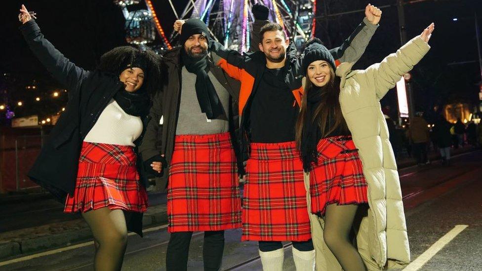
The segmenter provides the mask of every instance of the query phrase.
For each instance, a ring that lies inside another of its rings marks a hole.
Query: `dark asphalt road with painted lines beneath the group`
[[[414,264],[425,259],[421,267],[410,266],[407,271],[482,270],[481,165],[482,151],[476,151],[454,157],[450,167],[435,163],[400,171],[411,258]],[[462,230],[447,237],[454,228]],[[151,229],[144,238],[129,236],[122,270],[165,270],[168,236],[162,226]],[[240,230],[226,232],[222,269],[261,270],[257,243],[240,242],[240,236]],[[202,240],[202,233],[197,233],[191,242],[190,271],[203,270]],[[439,245],[443,240],[446,244]],[[18,259],[8,265],[0,262],[0,270],[92,270],[93,245],[79,246]],[[426,256],[431,252],[432,255]],[[285,249],[284,270],[295,270],[289,244]]]

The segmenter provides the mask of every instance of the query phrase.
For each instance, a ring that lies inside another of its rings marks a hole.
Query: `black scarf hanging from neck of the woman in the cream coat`
[[[321,93],[322,88],[314,86],[306,94],[308,96],[306,97],[307,103],[300,146],[303,168],[306,172],[310,171],[311,165],[317,159],[317,145],[322,136],[318,121],[313,119],[313,111],[321,102]]]

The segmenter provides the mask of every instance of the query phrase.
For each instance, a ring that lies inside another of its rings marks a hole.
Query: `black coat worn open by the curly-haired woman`
[[[119,75],[77,67],[43,37],[34,20],[23,24],[20,30],[32,52],[52,77],[68,90],[65,112],[59,117],[28,173],[32,181],[65,203],[67,193],[74,193],[82,141],[123,83]],[[143,123],[147,121],[146,116]],[[141,140],[142,136],[136,140],[136,146]],[[137,165],[139,169],[142,163]],[[145,185],[145,178],[141,180]],[[127,227],[142,235],[142,213],[134,216],[136,218]]]

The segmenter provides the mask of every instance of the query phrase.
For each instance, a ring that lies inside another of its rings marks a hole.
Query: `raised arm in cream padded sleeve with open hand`
[[[432,23],[420,36],[408,41],[396,53],[388,55],[382,62],[373,64],[364,71],[367,80],[373,85],[377,99],[382,99],[429,51],[428,41],[434,28]]]

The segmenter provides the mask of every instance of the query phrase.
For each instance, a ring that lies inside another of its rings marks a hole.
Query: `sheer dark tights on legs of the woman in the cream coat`
[[[344,271],[366,270],[360,253],[350,240],[350,231],[358,205],[326,206],[323,239]]]

